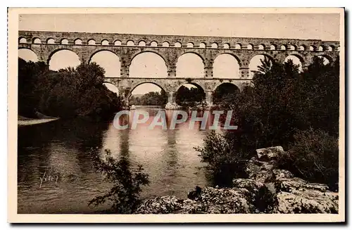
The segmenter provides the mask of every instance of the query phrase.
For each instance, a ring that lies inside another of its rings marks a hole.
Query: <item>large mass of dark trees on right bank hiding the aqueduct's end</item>
[[[256,148],[277,145],[285,149],[292,148],[297,152],[295,159],[303,159],[307,153],[298,153],[301,148],[294,146],[301,146],[300,141],[320,136],[324,139],[322,143],[329,143],[329,151],[315,145],[316,149],[311,154],[315,154],[316,158],[324,155],[327,164],[324,167],[334,172],[329,172],[326,177],[316,173],[306,174],[309,175],[306,179],[329,185],[338,180],[339,151],[330,142],[334,139],[337,143],[339,135],[339,60],[324,65],[322,58],[316,57],[306,70],[300,72],[298,65],[294,65],[291,60],[282,64],[265,59],[255,72],[253,82],[239,94],[222,98],[220,107],[234,110],[239,130],[224,134],[223,141],[230,143],[230,147],[223,154],[225,157],[219,157],[217,161],[228,164],[227,158],[236,159],[238,155],[245,155],[244,152],[254,153]],[[310,132],[303,132],[306,130]],[[206,139],[205,147],[199,149],[203,160],[210,163],[212,160],[205,152],[212,148],[211,140]],[[313,148],[314,145],[310,146]],[[301,158],[297,157],[299,154],[302,154]],[[248,155],[247,159],[250,157]],[[315,169],[318,164],[310,162],[312,172],[319,172]],[[307,165],[303,165],[303,160],[297,160],[295,167],[295,172],[299,172],[300,167]],[[237,170],[238,167],[233,169]]]

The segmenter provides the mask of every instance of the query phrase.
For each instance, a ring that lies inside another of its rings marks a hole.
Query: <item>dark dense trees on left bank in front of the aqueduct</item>
[[[96,63],[52,71],[43,62],[19,59],[19,115],[35,117],[38,111],[53,117],[110,117],[121,102],[103,85],[104,73]]]

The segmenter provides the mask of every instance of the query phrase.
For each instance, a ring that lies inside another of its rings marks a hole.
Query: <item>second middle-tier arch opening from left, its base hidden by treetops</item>
[[[75,68],[80,63],[80,58],[77,54],[69,49],[54,51],[48,60],[50,70],[60,70],[68,67]]]

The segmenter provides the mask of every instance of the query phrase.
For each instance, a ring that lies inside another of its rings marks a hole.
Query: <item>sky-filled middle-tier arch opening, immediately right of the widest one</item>
[[[184,53],[177,59],[176,77],[204,77],[203,59],[196,53]]]

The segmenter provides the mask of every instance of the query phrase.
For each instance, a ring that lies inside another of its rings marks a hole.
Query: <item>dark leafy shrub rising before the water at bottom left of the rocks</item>
[[[105,175],[107,181],[113,183],[113,187],[103,196],[96,196],[90,200],[88,205],[101,205],[106,200],[110,200],[111,211],[118,214],[130,214],[137,210],[141,203],[139,199],[141,187],[149,184],[149,176],[143,173],[142,165],[139,165],[137,170],[131,170],[130,162],[126,158],[116,160],[111,156],[110,150],[105,150],[105,152],[105,160],[94,153],[96,154],[94,162],[97,170]]]

